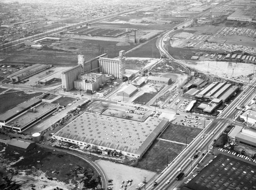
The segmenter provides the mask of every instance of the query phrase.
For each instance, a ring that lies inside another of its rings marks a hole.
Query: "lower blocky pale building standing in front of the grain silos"
[[[105,75],[98,73],[86,73],[78,76],[74,81],[74,88],[77,90],[98,90],[100,85],[105,83]]]

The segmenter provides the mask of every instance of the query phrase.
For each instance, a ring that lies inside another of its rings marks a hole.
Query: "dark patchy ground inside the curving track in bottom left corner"
[[[67,153],[36,147],[20,153],[7,148],[1,155],[4,169],[12,173],[15,181],[24,181],[20,189],[30,189],[31,183],[36,189],[65,190],[95,188],[99,183],[99,174],[86,161]]]

